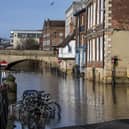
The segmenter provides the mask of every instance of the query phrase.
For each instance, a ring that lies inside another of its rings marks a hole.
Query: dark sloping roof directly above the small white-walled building
[[[64,40],[63,42],[61,42],[59,45],[57,45],[56,47],[65,47],[71,40],[74,39],[75,36],[75,31],[72,34],[69,34]]]

